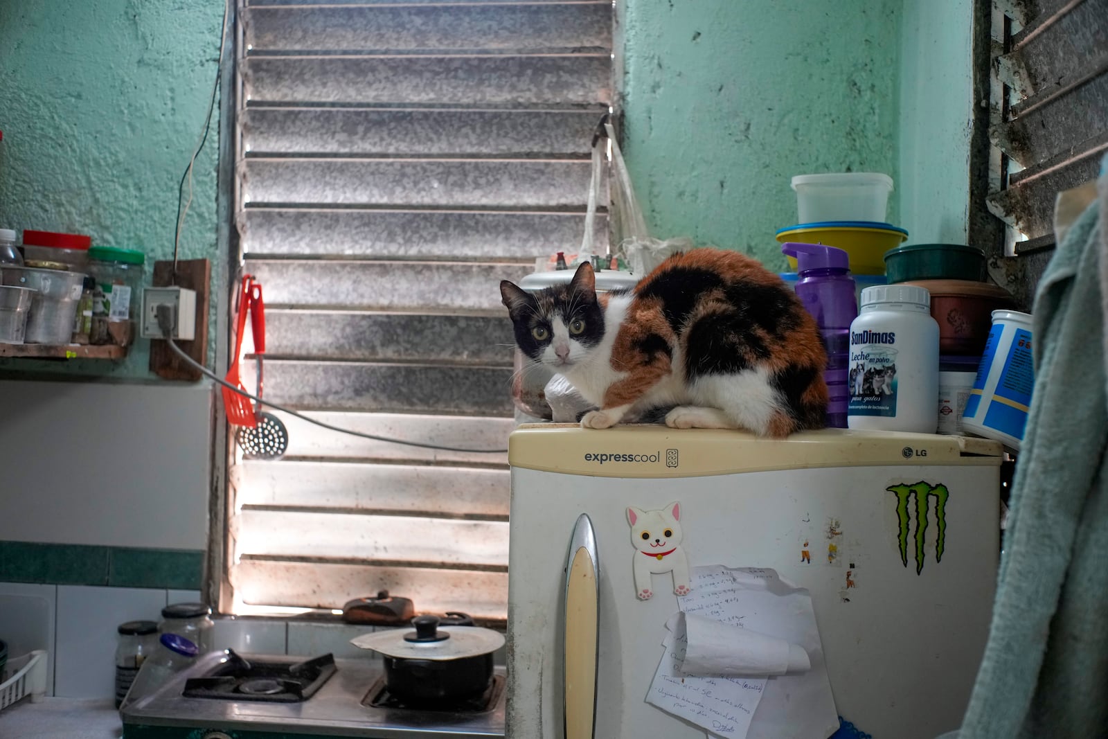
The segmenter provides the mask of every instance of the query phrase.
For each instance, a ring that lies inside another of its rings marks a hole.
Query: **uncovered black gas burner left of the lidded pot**
[[[335,674],[331,655],[300,663],[246,660],[227,649],[226,661],[185,680],[188,698],[293,704],[310,698]]]

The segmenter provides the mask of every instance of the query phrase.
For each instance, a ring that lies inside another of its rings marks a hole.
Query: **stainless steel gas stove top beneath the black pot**
[[[213,651],[124,706],[123,739],[488,739],[504,736],[504,671],[479,700],[409,708],[384,690],[380,659],[305,660]]]

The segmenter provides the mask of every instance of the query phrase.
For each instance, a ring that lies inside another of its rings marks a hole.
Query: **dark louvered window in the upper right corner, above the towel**
[[[1027,240],[1054,245],[1055,195],[1095,179],[1108,151],[1108,0],[996,0],[989,136],[1003,155],[992,213]]]

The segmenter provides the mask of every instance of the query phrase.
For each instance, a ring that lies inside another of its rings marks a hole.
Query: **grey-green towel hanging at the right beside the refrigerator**
[[[960,739],[1108,736],[1108,384],[1099,205],[1035,298],[1035,391]],[[956,624],[951,625],[957,628]]]

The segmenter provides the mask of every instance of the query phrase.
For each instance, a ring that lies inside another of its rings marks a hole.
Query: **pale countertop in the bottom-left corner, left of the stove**
[[[3,739],[119,739],[123,721],[114,700],[43,698],[21,700],[0,711]]]

